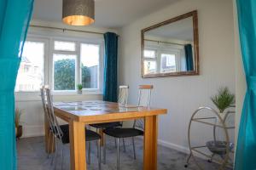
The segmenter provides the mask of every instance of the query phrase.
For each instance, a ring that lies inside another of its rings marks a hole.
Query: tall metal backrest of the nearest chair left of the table
[[[63,132],[61,131],[61,127],[55,116],[52,94],[48,87],[44,89],[46,94],[46,106],[47,106],[47,112],[49,117],[49,126],[52,129],[53,133],[61,139],[63,136]]]

